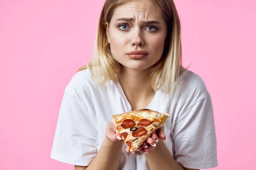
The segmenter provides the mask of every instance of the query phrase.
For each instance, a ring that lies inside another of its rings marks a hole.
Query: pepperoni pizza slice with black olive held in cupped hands
[[[149,109],[141,109],[113,115],[112,117],[112,122],[115,124],[116,129],[122,135],[122,139],[130,152],[133,152],[139,149],[141,144],[155,130],[166,123],[170,114],[166,111],[160,113]]]

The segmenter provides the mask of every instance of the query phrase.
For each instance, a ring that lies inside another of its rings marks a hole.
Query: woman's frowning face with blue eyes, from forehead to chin
[[[166,34],[165,21],[151,0],[118,6],[107,28],[114,59],[133,70],[150,68],[161,58]]]

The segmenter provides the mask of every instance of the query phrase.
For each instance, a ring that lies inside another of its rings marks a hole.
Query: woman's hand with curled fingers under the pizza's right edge
[[[148,139],[143,142],[143,144],[140,146],[140,148],[137,151],[132,152],[134,155],[142,155],[143,153],[151,152],[155,149],[157,146],[158,139],[166,140],[166,136],[164,134],[164,126],[158,128],[154,133],[151,134]],[[125,151],[127,153],[130,153],[128,147],[125,148]]]

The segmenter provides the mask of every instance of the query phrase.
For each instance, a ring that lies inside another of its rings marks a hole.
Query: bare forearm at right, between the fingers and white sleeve
[[[163,140],[159,140],[156,148],[145,154],[145,156],[151,170],[159,170],[159,165],[161,165],[162,170],[195,170],[184,168],[178,164],[172,157]]]

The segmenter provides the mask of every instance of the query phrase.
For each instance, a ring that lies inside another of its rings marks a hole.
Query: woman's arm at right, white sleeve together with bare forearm
[[[163,134],[159,132],[158,136]],[[198,100],[177,118],[172,140],[176,153],[174,156],[162,140],[159,140],[155,150],[145,154],[151,170],[157,170],[159,164],[163,170],[198,170],[218,165],[210,96]]]

